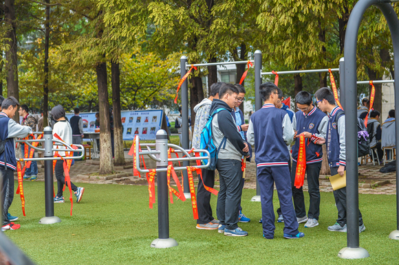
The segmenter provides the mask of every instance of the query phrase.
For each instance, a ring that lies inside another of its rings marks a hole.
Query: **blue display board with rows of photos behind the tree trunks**
[[[162,126],[163,113],[163,110],[121,111],[123,139],[133,140],[139,135],[142,140],[155,140],[155,134]],[[66,116],[71,119],[74,113]],[[79,116],[83,119],[83,133],[94,133],[96,113],[80,113]]]

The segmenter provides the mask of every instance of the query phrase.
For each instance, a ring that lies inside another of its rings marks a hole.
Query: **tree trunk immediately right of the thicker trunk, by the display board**
[[[119,62],[111,62],[112,106],[114,109],[114,150],[115,165],[125,165],[123,150],[123,128],[120,117],[120,71]]]

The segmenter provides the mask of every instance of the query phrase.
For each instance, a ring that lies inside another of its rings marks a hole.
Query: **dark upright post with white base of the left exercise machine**
[[[53,135],[52,128],[47,126],[43,132],[44,138],[44,157],[53,157]],[[44,161],[44,187],[45,187],[45,217],[41,218],[39,224],[54,224],[61,222],[61,219],[54,216],[54,182],[53,182],[53,163],[52,160]]]

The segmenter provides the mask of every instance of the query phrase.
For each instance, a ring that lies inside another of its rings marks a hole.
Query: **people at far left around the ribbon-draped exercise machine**
[[[29,108],[25,104],[19,104],[18,100],[14,97],[0,96],[0,174],[3,176],[2,188],[1,188],[1,207],[2,207],[2,224],[1,231],[16,230],[21,227],[20,224],[16,224],[14,221],[18,220],[17,216],[12,216],[8,209],[14,199],[14,172],[17,170],[17,159],[15,154],[16,139],[25,138],[29,136],[29,139],[33,139],[32,133],[36,130],[36,119],[29,115]],[[15,116],[19,108],[19,115],[22,117],[21,124],[12,119]],[[65,143],[72,144],[72,127],[71,124],[65,118],[65,110],[63,106],[57,105],[52,108],[52,117],[55,119],[53,126],[53,134],[57,134]],[[75,111],[76,113],[76,111]],[[43,124],[43,121],[42,121]],[[73,126],[75,124],[72,124]],[[76,126],[79,127],[79,121],[76,120]],[[39,130],[43,130],[43,125],[39,126]],[[79,137],[81,137],[79,135]],[[54,138],[56,139],[56,138]],[[56,146],[53,147],[54,149]],[[21,145],[21,149],[24,150],[24,146]],[[28,148],[30,152],[30,148]],[[65,156],[63,151],[60,151],[61,156]],[[55,165],[55,175],[57,180],[58,192],[54,198],[54,203],[63,203],[63,186],[65,185],[65,176],[63,161],[58,160]],[[32,161],[30,168],[26,169],[23,179],[34,181],[37,175],[36,161]],[[79,203],[82,199],[84,187],[76,187],[74,183],[71,183],[72,190],[76,196],[76,202]]]

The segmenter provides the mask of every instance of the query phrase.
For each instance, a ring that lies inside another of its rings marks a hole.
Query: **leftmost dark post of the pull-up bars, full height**
[[[187,73],[186,70],[187,57],[180,57],[180,76],[183,76]],[[188,78],[184,80],[182,84],[182,148],[188,150],[189,146],[189,137],[188,137]],[[189,161],[183,161],[183,166],[186,167],[190,165]],[[190,187],[188,186],[188,175],[187,172],[183,171],[184,178],[184,196],[186,198],[191,198]]]

